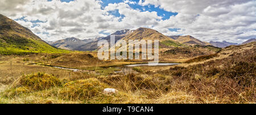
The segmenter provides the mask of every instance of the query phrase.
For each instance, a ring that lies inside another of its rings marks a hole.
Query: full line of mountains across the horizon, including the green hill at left
[[[229,45],[238,45],[232,42],[204,42],[192,36],[165,36],[162,33],[150,28],[138,28],[136,30],[124,29],[116,31],[111,35],[115,35],[117,40],[156,40],[158,39],[159,48],[174,48],[177,46],[193,46],[213,45],[224,48]],[[81,40],[75,37],[58,40],[55,42],[43,41],[36,36],[30,29],[23,27],[14,20],[0,14],[0,54],[30,54],[30,53],[58,53],[68,52],[68,50],[92,51],[97,50],[99,40],[107,40],[110,42],[110,35],[106,37],[96,37],[94,39]],[[243,44],[255,41],[250,39]],[[50,44],[50,45],[49,45]],[[64,50],[65,49],[65,50]]]

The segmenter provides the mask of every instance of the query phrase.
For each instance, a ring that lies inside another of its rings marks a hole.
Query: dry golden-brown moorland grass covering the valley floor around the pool
[[[0,103],[255,103],[255,44],[230,46],[218,55],[173,67],[135,67],[140,73],[128,75],[104,74],[113,73],[110,71],[113,69],[89,73],[23,66],[41,56],[25,57],[28,61],[24,57],[1,57]],[[46,62],[57,58],[64,56],[49,56]],[[113,64],[102,62],[102,65],[106,63]],[[43,75],[33,74],[38,72],[47,73],[46,80],[61,82],[61,85],[43,82]],[[30,80],[20,80],[20,77]],[[15,80],[22,81],[18,82],[22,86],[11,87]],[[38,87],[45,83],[49,85]],[[105,95],[104,88],[115,88],[119,92]]]

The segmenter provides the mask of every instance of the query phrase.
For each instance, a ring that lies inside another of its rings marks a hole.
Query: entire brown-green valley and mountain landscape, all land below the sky
[[[256,102],[253,40],[218,48],[150,28],[112,33],[116,41],[159,40],[159,65],[145,66],[149,59],[98,59],[97,42],[110,36],[49,45],[14,20],[0,19],[0,103]]]

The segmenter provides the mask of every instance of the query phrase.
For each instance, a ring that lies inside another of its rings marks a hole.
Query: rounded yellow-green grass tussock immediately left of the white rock
[[[105,84],[98,79],[89,78],[66,83],[63,90],[60,91],[60,95],[68,100],[88,100],[101,94],[104,88]]]

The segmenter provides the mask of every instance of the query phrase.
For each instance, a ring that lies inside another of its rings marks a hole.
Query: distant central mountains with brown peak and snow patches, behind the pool
[[[138,28],[136,30],[124,29],[121,31],[117,31],[112,33],[111,35],[115,35],[115,41],[117,40],[156,40],[160,41],[160,46],[166,48],[170,46],[181,46],[181,45],[210,45],[208,42],[203,42],[192,36],[165,36],[162,33],[155,31],[150,28]],[[73,40],[73,39],[75,40]],[[97,42],[99,40],[108,40],[110,42],[110,35],[107,37],[99,37],[96,39],[85,39],[80,40],[75,37],[67,38],[64,40],[58,40],[55,42],[51,42],[50,44],[53,46],[57,46],[58,48],[70,49],[70,50],[96,50],[98,49]],[[76,42],[79,41],[79,42]],[[85,42],[86,41],[86,42]]]

